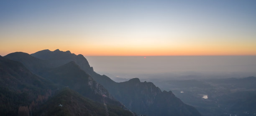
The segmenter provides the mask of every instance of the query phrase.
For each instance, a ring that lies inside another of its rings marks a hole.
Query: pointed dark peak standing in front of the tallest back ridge
[[[110,93],[96,81],[94,81],[87,73],[71,61],[63,66],[53,68],[49,71],[39,73],[40,76],[45,77],[58,86],[69,87],[83,96],[102,101],[104,95],[109,99],[113,99]]]

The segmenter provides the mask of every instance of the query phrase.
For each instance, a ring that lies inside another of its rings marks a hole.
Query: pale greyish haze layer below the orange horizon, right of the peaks
[[[134,77],[190,79],[246,77],[256,74],[256,56],[86,56],[86,58],[96,72],[110,76],[116,81]],[[117,80],[118,78],[120,80]]]

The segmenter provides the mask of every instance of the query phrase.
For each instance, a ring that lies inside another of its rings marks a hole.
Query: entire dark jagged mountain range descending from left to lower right
[[[0,56],[0,103],[1,116],[201,116],[172,91],[138,78],[116,83],[59,49]]]

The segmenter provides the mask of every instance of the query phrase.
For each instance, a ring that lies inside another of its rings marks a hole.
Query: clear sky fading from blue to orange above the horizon
[[[1,0],[0,55],[256,55],[256,0]]]

